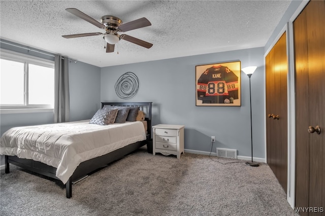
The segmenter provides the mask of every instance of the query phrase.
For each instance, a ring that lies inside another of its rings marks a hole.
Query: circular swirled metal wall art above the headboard
[[[119,98],[131,99],[138,93],[139,79],[132,72],[126,72],[115,83],[115,92]]]

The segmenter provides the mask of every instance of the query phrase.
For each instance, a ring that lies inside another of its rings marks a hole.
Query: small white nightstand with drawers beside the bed
[[[176,155],[180,159],[184,154],[184,125],[164,125],[152,126],[153,143],[152,153],[163,155]]]

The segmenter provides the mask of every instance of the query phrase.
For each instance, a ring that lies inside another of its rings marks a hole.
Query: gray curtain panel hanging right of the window
[[[68,58],[55,55],[54,64],[54,123],[69,122],[70,95]]]

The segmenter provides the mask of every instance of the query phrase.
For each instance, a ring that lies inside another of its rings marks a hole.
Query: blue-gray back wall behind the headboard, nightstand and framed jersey
[[[185,125],[185,149],[211,151],[237,149],[240,156],[251,156],[249,78],[241,73],[242,105],[237,107],[196,106],[196,65],[241,61],[241,67],[258,66],[251,77],[254,157],[265,158],[264,48],[237,50],[103,67],[101,101],[152,101],[153,125]],[[131,71],[140,80],[137,95],[129,100],[117,97],[118,78]]]

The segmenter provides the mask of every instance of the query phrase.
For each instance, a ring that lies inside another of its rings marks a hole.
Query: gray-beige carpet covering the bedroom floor
[[[73,185],[1,170],[1,215],[298,215],[270,167],[142,148]]]

